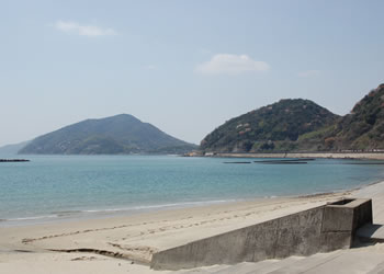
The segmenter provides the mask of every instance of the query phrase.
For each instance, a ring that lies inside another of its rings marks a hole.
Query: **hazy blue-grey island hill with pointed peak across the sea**
[[[87,119],[39,136],[22,148],[26,155],[184,153],[195,145],[173,138],[128,114]]]

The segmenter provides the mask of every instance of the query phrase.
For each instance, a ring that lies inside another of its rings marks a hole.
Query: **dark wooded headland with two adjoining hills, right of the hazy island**
[[[201,141],[199,152],[316,151],[384,151],[384,84],[345,116],[309,100],[281,100],[217,127]]]

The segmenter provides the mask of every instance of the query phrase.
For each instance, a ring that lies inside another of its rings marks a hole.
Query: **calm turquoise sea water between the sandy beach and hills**
[[[0,157],[1,158],[1,157]],[[334,192],[384,178],[384,165],[225,164],[249,159],[172,156],[31,156],[0,163],[0,226],[255,197]]]

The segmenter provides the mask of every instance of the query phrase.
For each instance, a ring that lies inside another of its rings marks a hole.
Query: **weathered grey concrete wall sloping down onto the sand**
[[[341,201],[160,251],[151,267],[192,269],[346,249],[366,222],[372,222],[371,199]]]

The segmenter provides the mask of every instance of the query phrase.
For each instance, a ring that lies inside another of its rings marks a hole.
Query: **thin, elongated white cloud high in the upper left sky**
[[[72,21],[57,21],[55,26],[61,32],[75,33],[84,36],[103,36],[117,34],[112,28],[102,28],[95,25],[80,25],[77,22]]]

